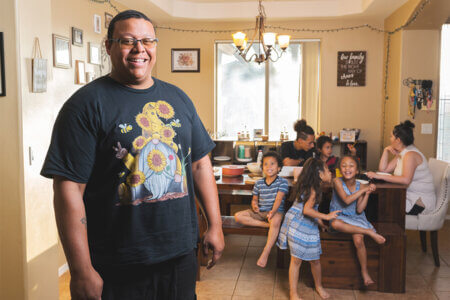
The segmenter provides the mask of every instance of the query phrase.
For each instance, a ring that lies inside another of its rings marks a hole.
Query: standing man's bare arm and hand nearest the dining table
[[[222,256],[225,241],[222,232],[222,217],[220,216],[217,185],[208,155],[192,163],[192,175],[198,199],[208,219],[208,230],[205,233],[203,246],[206,252],[205,255],[208,254],[208,249],[213,250],[212,261],[207,267],[209,269]]]

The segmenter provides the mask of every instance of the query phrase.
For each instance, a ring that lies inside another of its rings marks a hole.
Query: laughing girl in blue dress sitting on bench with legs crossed
[[[337,231],[350,233],[356,247],[364,285],[374,283],[367,270],[367,251],[364,245],[364,235],[370,236],[376,243],[383,244],[386,240],[376,233],[367,220],[364,209],[369,195],[375,191],[374,184],[361,184],[356,181],[359,163],[353,156],[344,156],[339,164],[342,177],[333,180],[334,191],[330,203],[330,211],[342,210],[338,217],[331,221],[331,227]]]

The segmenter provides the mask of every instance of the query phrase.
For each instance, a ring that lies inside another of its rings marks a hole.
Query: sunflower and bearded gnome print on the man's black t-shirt
[[[183,157],[181,145],[174,141],[173,128],[181,126],[179,120],[173,120],[174,115],[173,107],[166,101],[145,104],[136,116],[142,134],[134,139],[131,153],[120,143],[114,147],[116,157],[127,169],[119,174],[124,182],[118,188],[118,205],[139,205],[187,195],[185,160],[191,149]]]

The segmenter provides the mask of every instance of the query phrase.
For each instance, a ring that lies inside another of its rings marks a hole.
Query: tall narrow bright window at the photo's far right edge
[[[437,158],[450,162],[450,24],[441,33]]]

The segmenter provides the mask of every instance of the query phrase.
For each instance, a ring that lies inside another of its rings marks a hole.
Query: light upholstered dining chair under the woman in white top
[[[450,167],[449,163],[430,158],[428,167],[433,175],[434,189],[436,192],[436,208],[433,212],[419,214],[417,216],[406,215],[405,228],[420,232],[422,251],[427,251],[427,232],[430,232],[431,250],[434,264],[440,266],[438,251],[438,230],[444,225],[450,198]]]

